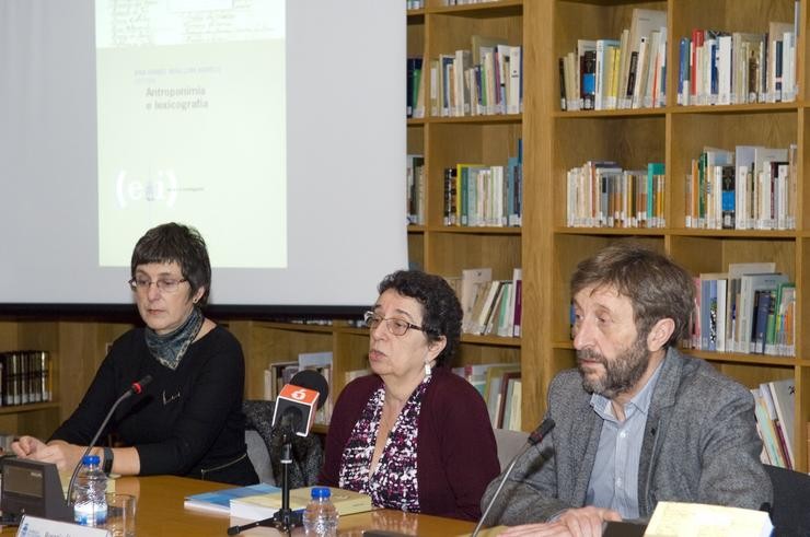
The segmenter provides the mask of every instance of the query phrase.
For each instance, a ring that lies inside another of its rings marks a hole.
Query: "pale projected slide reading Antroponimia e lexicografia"
[[[99,261],[159,223],[287,266],[285,0],[96,0]]]

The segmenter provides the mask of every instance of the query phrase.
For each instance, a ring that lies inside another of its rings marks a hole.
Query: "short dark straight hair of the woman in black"
[[[208,303],[211,292],[211,261],[208,259],[206,242],[196,229],[170,222],[149,230],[138,240],[132,250],[132,278],[139,265],[150,262],[180,265],[183,278],[188,280],[190,287],[189,296],[205,288],[197,304],[205,306]]]

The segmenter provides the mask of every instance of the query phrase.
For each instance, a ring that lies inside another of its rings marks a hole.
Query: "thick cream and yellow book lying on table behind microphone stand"
[[[342,516],[371,511],[371,497],[352,490],[329,487],[332,503]],[[312,495],[312,487],[290,491],[290,509],[302,511]],[[281,509],[281,491],[234,498],[230,502],[231,516],[248,521],[269,518]]]

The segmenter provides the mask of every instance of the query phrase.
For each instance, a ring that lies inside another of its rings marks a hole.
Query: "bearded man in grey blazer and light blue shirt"
[[[608,521],[649,518],[659,501],[770,503],[751,393],[676,348],[690,275],[618,242],[577,266],[570,292],[578,369],[552,381],[556,427],[517,462],[485,522],[519,525],[504,536],[597,536]]]

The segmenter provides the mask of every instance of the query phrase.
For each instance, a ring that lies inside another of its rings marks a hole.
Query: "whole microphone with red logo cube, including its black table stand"
[[[292,464],[292,435],[310,434],[315,412],[320,410],[329,395],[326,378],[316,371],[299,371],[276,398],[273,409],[273,428],[281,433],[281,509],[270,518],[251,522],[243,526],[231,526],[228,535],[236,535],[256,526],[273,526],[289,533],[301,525],[301,513],[290,509],[289,467]]]

